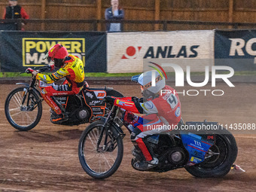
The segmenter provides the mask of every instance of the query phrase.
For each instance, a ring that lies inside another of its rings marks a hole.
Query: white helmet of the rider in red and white
[[[152,84],[154,85],[154,82],[152,82],[152,77],[155,78],[155,86],[152,86]],[[142,85],[144,92],[150,91],[154,94],[158,93],[163,89],[163,87],[166,86],[165,78],[163,78],[163,76],[155,70],[139,75],[138,83]]]

